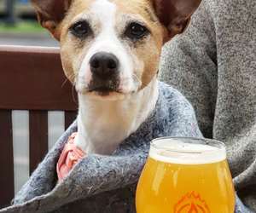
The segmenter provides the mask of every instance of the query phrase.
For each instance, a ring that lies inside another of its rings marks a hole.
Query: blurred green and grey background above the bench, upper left
[[[0,0],[1,44],[58,46],[49,32],[38,25],[30,0]]]

